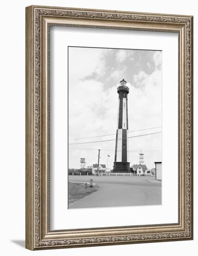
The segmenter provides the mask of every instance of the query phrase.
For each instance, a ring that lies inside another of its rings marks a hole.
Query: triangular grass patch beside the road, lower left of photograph
[[[90,195],[98,189],[98,185],[94,185],[93,188],[89,187],[89,184],[78,183],[78,182],[69,182],[69,204]]]

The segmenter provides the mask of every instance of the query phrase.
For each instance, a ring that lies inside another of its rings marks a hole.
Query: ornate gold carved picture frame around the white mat
[[[49,227],[49,26],[179,34],[179,222],[51,231]],[[26,7],[26,248],[193,239],[193,17],[63,7]]]

